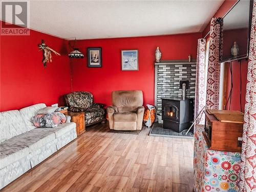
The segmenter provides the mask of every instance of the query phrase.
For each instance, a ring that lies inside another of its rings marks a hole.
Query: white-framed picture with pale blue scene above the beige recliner
[[[122,70],[139,70],[139,50],[122,50]]]

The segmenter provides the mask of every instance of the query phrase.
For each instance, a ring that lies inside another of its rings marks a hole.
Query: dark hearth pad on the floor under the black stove
[[[185,135],[186,131],[187,129],[181,133],[178,133],[173,131],[172,129],[164,129],[163,124],[155,122],[151,128],[150,135],[162,137],[194,138],[193,132],[188,132],[187,135]]]

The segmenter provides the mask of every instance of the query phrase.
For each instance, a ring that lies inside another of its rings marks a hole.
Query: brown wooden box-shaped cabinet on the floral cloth
[[[209,114],[209,111],[204,111],[205,128],[203,135],[209,149],[241,152],[243,133],[243,121],[241,119],[243,119],[243,113],[238,111],[216,111],[219,113]],[[226,115],[223,115],[224,113]],[[233,118],[233,121],[222,120],[221,117],[223,116],[227,116],[227,119],[228,117]]]

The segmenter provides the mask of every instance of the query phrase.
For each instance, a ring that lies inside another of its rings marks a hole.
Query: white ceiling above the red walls
[[[223,0],[30,1],[30,28],[65,39],[202,32],[222,3]]]

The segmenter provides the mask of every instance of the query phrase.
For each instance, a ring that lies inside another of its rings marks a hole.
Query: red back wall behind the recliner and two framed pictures
[[[72,60],[72,82],[74,91],[90,91],[94,101],[111,105],[114,90],[140,89],[144,94],[144,105],[154,105],[154,62],[156,47],[160,47],[162,60],[188,59],[197,55],[197,39],[201,33],[80,40],[76,47],[86,55],[87,47],[102,47],[102,67],[87,67],[87,58]],[[139,71],[121,71],[121,50],[139,50]]]

